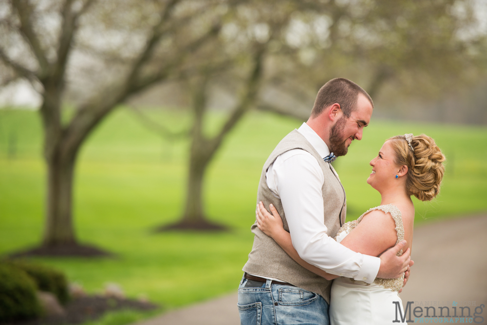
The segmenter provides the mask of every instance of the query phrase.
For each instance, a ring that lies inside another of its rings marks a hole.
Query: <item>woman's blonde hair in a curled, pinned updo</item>
[[[431,201],[440,192],[441,180],[445,173],[445,155],[434,140],[428,135],[413,136],[411,146],[404,135],[390,138],[396,154],[395,163],[398,166],[408,166],[406,191],[421,201]]]

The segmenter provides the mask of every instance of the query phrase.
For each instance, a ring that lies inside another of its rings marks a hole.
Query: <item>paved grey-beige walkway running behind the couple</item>
[[[410,281],[404,304],[440,302],[487,305],[487,215],[428,224],[414,229]],[[188,306],[137,325],[238,325],[237,293]],[[485,308],[487,309],[487,308]],[[472,308],[472,314],[473,314]],[[483,315],[487,321],[487,310]],[[487,322],[486,322],[487,323]]]

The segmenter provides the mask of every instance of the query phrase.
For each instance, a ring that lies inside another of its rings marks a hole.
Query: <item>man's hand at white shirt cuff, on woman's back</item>
[[[405,246],[406,241],[403,240],[380,255],[380,268],[377,273],[378,278],[397,279],[408,270],[411,261],[411,250],[406,249],[402,256],[396,256]]]

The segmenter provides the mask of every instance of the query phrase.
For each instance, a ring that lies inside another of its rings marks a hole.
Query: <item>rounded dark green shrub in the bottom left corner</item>
[[[0,323],[39,316],[36,290],[26,272],[0,264]]]

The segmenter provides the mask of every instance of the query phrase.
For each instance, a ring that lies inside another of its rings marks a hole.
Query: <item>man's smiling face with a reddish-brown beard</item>
[[[370,123],[372,104],[367,97],[358,95],[357,107],[350,117],[343,115],[330,130],[330,152],[336,156],[343,156],[353,140],[361,140],[363,128]]]

